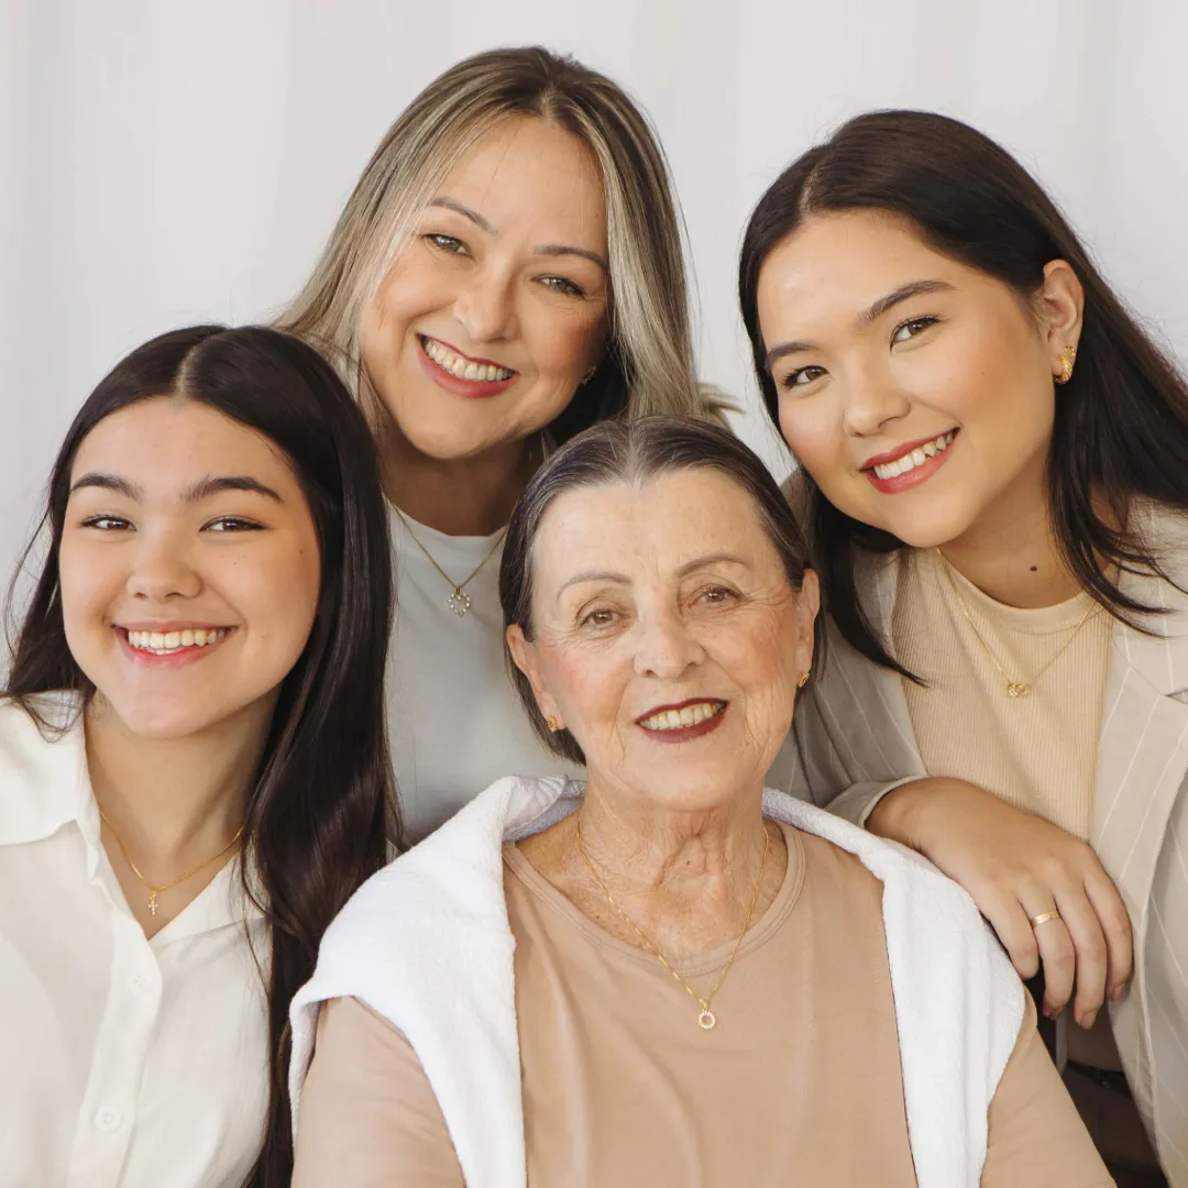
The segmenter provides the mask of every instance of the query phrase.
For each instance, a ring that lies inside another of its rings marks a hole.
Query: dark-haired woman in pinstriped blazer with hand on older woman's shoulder
[[[940,115],[792,164],[739,291],[830,619],[800,790],[961,883],[1050,1015],[1108,997],[1117,1051],[1105,1012],[1067,1029],[1070,1088],[1117,1120],[1124,1067],[1188,1184],[1183,379],[1026,171]],[[1119,1182],[1133,1131],[1102,1144]]]

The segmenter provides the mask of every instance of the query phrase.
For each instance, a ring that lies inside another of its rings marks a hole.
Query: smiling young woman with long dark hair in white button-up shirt
[[[0,701],[6,1183],[280,1188],[289,1003],[387,858],[367,425],[274,330],[134,350],[53,466]]]

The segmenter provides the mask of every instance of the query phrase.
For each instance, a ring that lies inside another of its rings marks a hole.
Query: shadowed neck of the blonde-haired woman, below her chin
[[[511,519],[541,465],[539,441],[533,435],[472,457],[436,459],[387,418],[379,432],[384,491],[405,516],[447,536],[491,536]]]

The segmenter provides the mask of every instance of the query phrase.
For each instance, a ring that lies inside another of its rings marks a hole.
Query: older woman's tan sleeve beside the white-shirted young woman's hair
[[[404,1035],[353,998],[322,1007],[292,1188],[465,1188],[446,1119]]]

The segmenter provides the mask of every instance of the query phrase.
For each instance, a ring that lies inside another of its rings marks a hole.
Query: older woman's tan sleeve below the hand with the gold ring
[[[1030,994],[1015,1051],[990,1104],[981,1188],[1112,1188],[1081,1116],[1036,1031]]]

